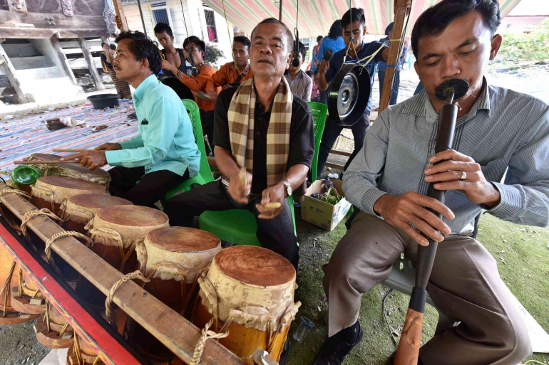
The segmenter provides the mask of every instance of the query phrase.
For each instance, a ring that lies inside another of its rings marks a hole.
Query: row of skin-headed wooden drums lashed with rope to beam
[[[162,211],[107,194],[104,184],[62,176],[41,177],[31,190],[36,208],[56,213],[66,231],[86,235],[83,244],[121,273],[140,270],[148,280],[142,285],[146,291],[200,329],[220,334],[218,341],[245,363],[253,364],[257,348],[278,361],[299,307],[294,303],[296,273],[285,258],[255,246],[222,250],[211,233],[170,227]],[[34,233],[26,238],[48,256]],[[49,255],[78,295],[104,314],[106,296],[56,253]],[[96,349],[63,318],[63,308],[45,300],[34,280],[0,250],[0,324],[39,317],[39,342],[70,347],[67,364],[102,364]],[[183,364],[122,310],[114,318],[118,332],[153,364]]]

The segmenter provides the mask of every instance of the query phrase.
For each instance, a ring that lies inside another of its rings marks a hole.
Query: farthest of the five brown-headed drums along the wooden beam
[[[91,181],[47,176],[36,181],[31,193],[36,208],[46,208],[52,213],[58,213],[61,203],[66,199],[81,194],[106,194],[106,188]]]

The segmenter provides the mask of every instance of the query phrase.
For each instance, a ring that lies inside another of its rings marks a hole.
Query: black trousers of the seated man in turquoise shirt
[[[127,199],[137,206],[155,207],[171,189],[189,179],[189,170],[183,176],[172,171],[153,171],[145,175],[145,167],[116,166],[108,171],[111,175],[109,191],[113,196]],[[145,176],[143,176],[145,175]],[[136,181],[141,180],[139,184]]]

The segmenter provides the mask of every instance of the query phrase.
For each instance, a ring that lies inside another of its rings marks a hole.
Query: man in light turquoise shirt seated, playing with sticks
[[[109,171],[111,194],[136,205],[154,206],[170,189],[198,174],[200,152],[183,103],[156,78],[162,60],[155,44],[139,31],[120,33],[116,43],[113,68],[120,80],[135,88],[139,134],[65,159],[78,159],[91,170],[116,166]]]

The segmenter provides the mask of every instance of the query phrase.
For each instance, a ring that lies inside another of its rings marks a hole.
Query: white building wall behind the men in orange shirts
[[[183,2],[183,11],[181,9],[181,4]],[[175,38],[174,42],[176,47],[183,48],[183,41],[188,36],[197,36],[208,42],[207,38],[207,26],[206,26],[206,17],[204,13],[205,8],[202,5],[201,0],[149,0],[151,9],[160,9],[153,7],[154,4],[165,3],[165,8],[168,10],[168,17],[170,19],[170,26],[173,30],[173,36]],[[145,33],[151,39],[155,39],[153,33],[153,22],[151,21],[150,11],[147,6],[147,2],[141,0],[141,9],[143,10],[143,19],[145,20]],[[123,3],[124,14],[126,20],[128,21],[128,26],[131,30],[143,31],[143,22],[139,14],[139,9],[137,5],[137,0],[128,1]],[[183,18],[185,17],[185,18]],[[189,34],[185,30],[185,22],[187,23],[187,28]],[[217,30],[217,42],[212,42],[212,44],[217,45],[223,54],[225,59],[218,61],[218,65],[222,65],[225,62],[228,62],[232,59],[232,40],[230,40],[227,33],[227,23],[225,18],[220,14],[215,13],[215,26]],[[231,26],[232,28],[232,26]]]

